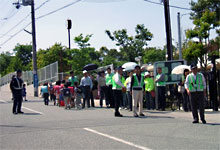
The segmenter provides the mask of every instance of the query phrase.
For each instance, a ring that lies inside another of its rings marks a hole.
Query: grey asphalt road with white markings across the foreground
[[[12,114],[11,94],[0,91],[0,149],[219,150],[220,113],[206,111],[207,124],[192,124],[190,112],[65,110],[28,97],[24,114]]]

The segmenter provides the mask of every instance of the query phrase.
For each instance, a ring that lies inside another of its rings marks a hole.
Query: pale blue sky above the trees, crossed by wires
[[[0,0],[0,52],[12,52],[17,43],[31,44],[32,42],[31,35],[23,31],[23,28],[31,22],[31,8],[30,6],[21,6],[16,9],[12,4],[16,1]],[[35,11],[35,16],[38,18],[75,1],[77,0],[35,0],[35,8],[44,4]],[[160,2],[160,0],[150,1]],[[170,5],[189,9],[190,1],[170,0]],[[182,15],[182,33],[184,30],[193,27],[192,21],[189,19],[189,10],[171,7],[173,45],[178,42],[177,12]],[[28,14],[29,16],[27,16]],[[152,4],[144,0],[81,0],[51,15],[36,19],[37,50],[49,48],[56,42],[68,47],[67,19],[72,20],[71,48],[77,48],[73,38],[81,33],[83,35],[93,34],[90,44],[97,50],[102,46],[109,49],[118,48],[115,42],[109,39],[105,30],[113,32],[127,29],[128,35],[134,36],[137,24],[144,24],[153,33],[153,39],[148,42],[149,47],[162,48],[166,44],[164,7],[162,5]],[[18,24],[19,22],[21,23]],[[25,29],[31,32],[31,25]],[[7,41],[10,36],[17,32],[19,33],[16,36]],[[7,34],[5,35],[5,33]],[[183,38],[184,35],[182,35]]]

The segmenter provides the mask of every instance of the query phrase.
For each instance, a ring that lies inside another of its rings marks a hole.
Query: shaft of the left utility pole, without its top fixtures
[[[38,75],[37,75],[37,54],[36,54],[36,29],[35,29],[35,10],[34,0],[31,1],[31,19],[32,19],[32,51],[33,51],[33,80],[34,80],[34,96],[38,96]]]

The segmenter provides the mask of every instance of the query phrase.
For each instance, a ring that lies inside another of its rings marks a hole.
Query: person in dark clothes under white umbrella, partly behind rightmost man
[[[183,72],[183,76],[181,79],[181,87],[184,87],[184,91],[182,92],[182,98],[183,98],[183,110],[185,112],[188,112],[189,110],[191,111],[191,104],[190,104],[190,100],[189,100],[189,95],[187,94],[187,91],[185,89],[185,81],[186,81],[186,77],[189,75],[189,69],[185,69]]]

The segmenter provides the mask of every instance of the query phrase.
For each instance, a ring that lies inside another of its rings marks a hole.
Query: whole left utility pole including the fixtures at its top
[[[37,55],[36,55],[36,31],[35,31],[35,10],[34,0],[22,0],[22,3],[13,3],[17,9],[23,6],[31,6],[31,20],[32,20],[32,60],[33,60],[33,84],[34,84],[34,96],[38,96],[38,75],[37,75]],[[24,30],[26,31],[26,30]],[[27,32],[27,31],[26,31]],[[28,32],[30,33],[30,32]]]

